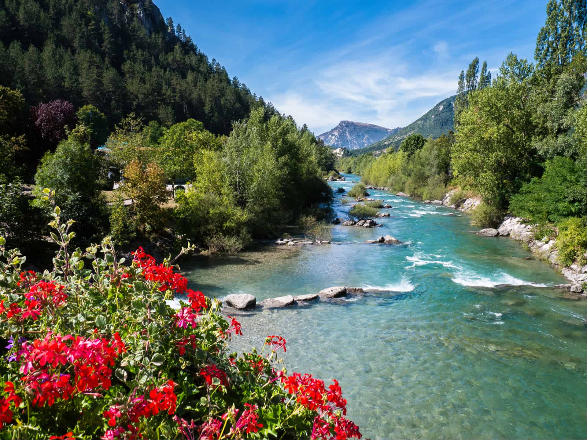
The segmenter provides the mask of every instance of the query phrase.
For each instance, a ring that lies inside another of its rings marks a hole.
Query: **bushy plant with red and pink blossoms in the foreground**
[[[230,353],[240,323],[188,288],[177,257],[139,248],[125,264],[108,237],[70,251],[73,222],[44,194],[51,271],[22,271],[0,237],[0,437],[360,438],[338,381],[277,369],[285,339]]]

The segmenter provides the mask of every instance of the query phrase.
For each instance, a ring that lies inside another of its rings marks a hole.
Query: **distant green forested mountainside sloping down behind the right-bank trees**
[[[431,110],[407,127],[400,129],[379,142],[375,142],[375,144],[366,146],[365,148],[355,149],[352,151],[352,154],[361,155],[372,153],[390,147],[397,149],[402,141],[413,133],[420,133],[425,138],[430,136],[433,138],[440,137],[442,134],[454,128],[454,98],[456,97],[457,95],[453,95],[450,98],[440,101],[440,103],[434,105]]]

